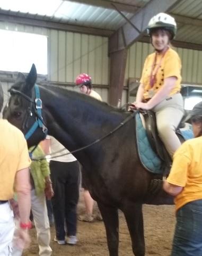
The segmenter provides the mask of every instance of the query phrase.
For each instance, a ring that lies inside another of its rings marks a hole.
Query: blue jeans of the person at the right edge
[[[202,200],[177,211],[171,256],[202,256]]]

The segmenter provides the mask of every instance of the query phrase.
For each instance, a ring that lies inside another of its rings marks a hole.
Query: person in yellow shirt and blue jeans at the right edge
[[[171,256],[202,255],[202,102],[191,112],[195,138],[174,154],[164,190],[174,197],[177,224]]]

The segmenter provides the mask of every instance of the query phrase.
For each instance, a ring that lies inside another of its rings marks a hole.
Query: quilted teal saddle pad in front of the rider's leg
[[[146,130],[143,127],[142,120],[139,113],[135,115],[136,119],[136,138],[137,138],[137,151],[140,162],[144,168],[154,174],[162,174],[162,161],[159,156],[152,150],[150,142],[148,141]]]

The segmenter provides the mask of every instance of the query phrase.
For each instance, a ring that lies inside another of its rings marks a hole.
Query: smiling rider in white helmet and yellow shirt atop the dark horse
[[[159,136],[171,158],[180,146],[175,129],[183,117],[181,61],[177,52],[170,47],[176,31],[175,20],[165,13],[155,15],[148,23],[147,32],[155,52],[145,60],[133,103],[137,109],[155,112]]]

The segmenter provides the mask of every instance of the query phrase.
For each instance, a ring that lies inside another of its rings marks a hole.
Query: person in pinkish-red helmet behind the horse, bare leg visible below
[[[76,77],[75,84],[76,84],[76,86],[79,86],[81,93],[87,94],[93,98],[96,98],[96,100],[102,101],[101,96],[92,89],[92,78],[89,75],[87,75],[86,73],[82,73],[82,74],[78,75]],[[87,190],[87,186],[86,186],[83,178],[82,178],[82,187],[84,189],[83,197],[84,197],[86,213],[84,216],[79,216],[78,220],[87,221],[87,222],[92,222],[94,220],[94,218],[96,218],[98,220],[102,220],[100,213],[98,213],[96,216],[93,216],[94,201],[93,201],[89,191]]]

